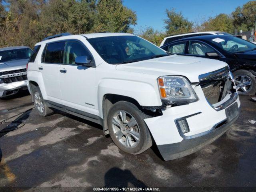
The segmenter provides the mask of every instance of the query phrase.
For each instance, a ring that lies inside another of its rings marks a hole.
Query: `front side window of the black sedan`
[[[205,55],[207,52],[215,52],[215,50],[202,42],[198,42],[198,41],[190,42],[189,54]]]

